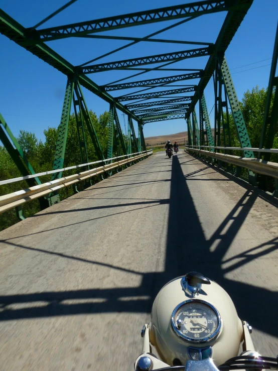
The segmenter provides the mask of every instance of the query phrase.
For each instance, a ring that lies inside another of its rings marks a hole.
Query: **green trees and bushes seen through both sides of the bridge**
[[[250,142],[252,147],[256,148],[259,146],[260,133],[262,129],[264,106],[266,100],[266,89],[259,89],[258,86],[253,88],[251,91],[247,90],[244,95],[242,102],[240,102],[243,117],[246,123],[247,131],[249,134]],[[108,118],[109,113],[104,112],[99,117],[92,111],[90,111],[90,116],[92,118],[98,139],[103,153],[107,153],[107,143],[108,143]],[[232,147],[240,147],[236,128],[233,123],[232,114],[229,114],[230,118],[230,132],[231,132],[231,145]],[[225,123],[225,120],[224,120]],[[45,172],[52,169],[53,160],[56,150],[56,143],[58,138],[58,129],[48,128],[44,131],[45,141],[39,141],[34,133],[21,131],[18,142],[23,149],[27,159],[33,166],[36,173]],[[85,137],[89,138],[89,133],[85,127]],[[148,138],[146,139],[148,143]],[[223,136],[221,138],[223,143]],[[93,144],[90,140],[87,141],[87,151],[89,162],[97,161],[97,155]],[[180,149],[184,148],[184,142],[178,142]],[[226,142],[228,143],[228,142]],[[158,146],[149,146],[148,149],[153,148],[154,153],[158,151],[165,150],[165,143]],[[273,143],[273,148],[278,148],[278,134],[276,132],[275,139]],[[235,155],[242,156],[241,151],[235,151]],[[256,153],[255,153],[256,155]],[[271,161],[278,162],[278,154],[271,154]],[[73,166],[80,163],[80,150],[77,140],[77,129],[75,116],[72,114],[69,120],[69,130],[68,139],[66,146],[66,154],[64,160],[64,167]],[[75,170],[69,170],[63,173],[64,176],[74,174]],[[246,173],[246,171],[245,171]],[[10,155],[6,149],[0,146],[0,180],[11,179],[20,177],[21,174],[11,159]],[[46,175],[40,177],[42,183],[51,180],[51,175]],[[92,178],[92,182],[98,182],[101,180],[100,177]],[[0,196],[8,193],[15,192],[20,189],[27,188],[28,185],[25,181],[11,183],[7,185],[0,186]],[[82,190],[85,188],[85,183],[80,182],[77,185],[77,190]],[[267,181],[267,190],[273,191],[274,180],[269,178]],[[63,200],[71,196],[76,189],[73,187],[67,187],[60,190],[60,199]],[[23,205],[23,214],[25,217],[34,215],[40,210],[39,201],[34,200]],[[0,214],[0,230],[5,229],[18,222],[15,209],[9,210],[5,213]]]

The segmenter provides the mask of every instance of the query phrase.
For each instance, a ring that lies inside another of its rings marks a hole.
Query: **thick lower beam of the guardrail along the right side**
[[[227,162],[229,164],[252,170],[254,173],[278,178],[278,164],[275,162],[264,161],[255,158],[226,155],[224,153],[210,152],[205,150],[197,150],[195,148],[189,148],[188,146],[186,146],[185,148],[188,151],[199,153],[204,156],[212,157],[214,159]],[[248,148],[248,150],[250,150],[250,148]]]

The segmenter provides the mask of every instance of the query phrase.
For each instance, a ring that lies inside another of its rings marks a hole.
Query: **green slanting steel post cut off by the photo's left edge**
[[[5,129],[5,130],[4,130]],[[3,143],[7,152],[11,156],[18,170],[22,176],[36,174],[30,162],[27,160],[23,150],[21,149],[18,141],[11,132],[7,122],[0,113],[0,141]],[[37,184],[42,184],[38,177],[26,179],[26,182],[29,187],[33,187]],[[44,210],[48,207],[48,201],[44,197],[39,198],[40,208]],[[22,215],[22,214],[21,214]]]

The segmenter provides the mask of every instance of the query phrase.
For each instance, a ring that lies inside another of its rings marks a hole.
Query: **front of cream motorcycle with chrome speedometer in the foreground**
[[[168,282],[158,293],[135,371],[278,369],[277,358],[257,353],[252,327],[238,318],[227,292],[200,273]],[[242,352],[238,356],[240,344]]]

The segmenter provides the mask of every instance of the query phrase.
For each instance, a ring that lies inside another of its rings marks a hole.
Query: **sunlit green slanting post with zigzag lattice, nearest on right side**
[[[240,141],[240,146],[241,146],[241,148],[242,147],[245,147],[245,148],[252,147],[251,143],[250,143],[249,136],[248,136],[248,132],[247,132],[247,129],[246,129],[246,125],[245,125],[245,122],[244,122],[244,118],[243,118],[243,115],[242,115],[242,112],[241,112],[241,108],[240,108],[240,105],[239,105],[239,100],[238,100],[236,92],[235,92],[234,84],[233,84],[232,77],[231,77],[231,74],[230,74],[228,64],[227,64],[227,61],[226,61],[225,57],[223,57],[223,61],[221,63],[220,68],[221,68],[221,72],[222,72],[222,76],[223,76],[224,86],[225,86],[225,89],[226,89],[226,92],[227,92],[227,95],[228,95],[228,99],[229,99],[229,103],[230,103],[230,106],[231,106],[231,109],[232,109],[232,115],[233,115],[235,126],[236,126],[236,129],[237,129],[237,134],[238,134],[238,138],[239,138],[239,141]],[[243,153],[244,153],[244,157],[247,157],[247,158],[253,158],[254,157],[253,151],[247,151],[246,150],[246,151],[243,151]]]

